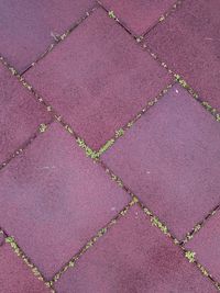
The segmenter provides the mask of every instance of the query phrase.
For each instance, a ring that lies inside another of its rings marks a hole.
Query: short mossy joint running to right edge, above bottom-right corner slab
[[[216,215],[217,212],[219,212],[219,210],[220,210],[220,204],[218,204],[217,206],[215,206],[215,209],[212,209],[200,222],[198,222],[194,226],[194,228],[186,234],[186,236],[183,238],[183,240],[180,241],[180,244],[184,246],[187,243],[189,243],[194,238],[194,236],[198,232],[200,232],[200,229],[206,225],[206,223],[208,221],[210,221],[212,218],[212,216]]]

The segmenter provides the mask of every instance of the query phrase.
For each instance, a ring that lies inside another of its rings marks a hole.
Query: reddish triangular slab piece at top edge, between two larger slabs
[[[109,11],[134,34],[144,34],[166,12],[174,0],[101,0]]]

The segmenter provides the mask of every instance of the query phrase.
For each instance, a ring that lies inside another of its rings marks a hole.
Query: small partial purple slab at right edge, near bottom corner
[[[220,280],[220,214],[209,219],[205,227],[186,245],[218,281]]]

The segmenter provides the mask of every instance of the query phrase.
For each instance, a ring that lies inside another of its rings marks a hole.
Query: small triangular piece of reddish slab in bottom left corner
[[[45,284],[33,275],[9,245],[0,247],[1,293],[50,293]]]

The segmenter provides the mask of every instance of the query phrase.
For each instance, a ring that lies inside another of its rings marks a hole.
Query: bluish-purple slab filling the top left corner
[[[1,0],[0,54],[23,71],[92,8],[95,0]]]

